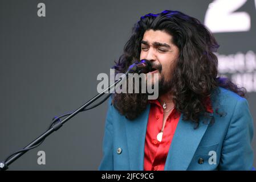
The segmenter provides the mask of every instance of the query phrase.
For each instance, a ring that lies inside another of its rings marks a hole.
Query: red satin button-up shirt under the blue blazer
[[[160,102],[151,100],[151,109],[149,111],[147,134],[144,148],[144,170],[145,171],[163,171],[165,161],[169,152],[170,144],[175,133],[181,113],[173,109],[166,119],[162,140],[157,140],[157,134],[162,129],[163,109]],[[206,110],[213,113],[210,104],[210,98],[206,100]]]

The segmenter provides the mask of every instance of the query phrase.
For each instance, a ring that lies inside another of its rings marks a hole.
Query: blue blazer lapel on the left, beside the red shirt
[[[144,169],[144,146],[147,133],[150,105],[134,121],[125,121],[130,169],[141,171]]]

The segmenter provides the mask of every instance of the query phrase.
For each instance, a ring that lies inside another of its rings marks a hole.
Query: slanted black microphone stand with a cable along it
[[[91,98],[91,100],[87,101],[86,104],[80,106],[78,109],[76,109],[72,114],[68,115],[68,117],[64,118],[62,121],[58,120],[58,122],[54,123],[54,125],[48,129],[46,132],[44,132],[42,135],[40,135],[38,138],[36,138],[35,140],[33,140],[29,145],[27,145],[26,147],[23,148],[23,150],[25,151],[21,151],[18,152],[17,154],[15,154],[14,156],[12,156],[9,160],[7,160],[6,162],[1,162],[0,163],[0,171],[5,171],[6,169],[8,169],[8,166],[13,163],[15,160],[17,160],[18,158],[20,158],[23,154],[25,154],[27,151],[27,148],[33,147],[36,144],[38,144],[39,142],[41,142],[42,140],[44,140],[46,137],[48,137],[48,135],[50,135],[51,133],[53,133],[54,131],[57,131],[58,129],[60,129],[60,127],[62,127],[62,125],[64,123],[66,123],[68,120],[70,120],[72,117],[74,117],[76,114],[78,114],[80,111],[83,111],[84,109],[86,109],[87,106],[91,105],[93,102],[95,102],[98,98],[100,98],[101,96],[103,96],[103,94],[107,91],[109,91],[110,89],[112,89],[113,87],[116,86],[116,84],[118,84],[119,82],[123,82],[123,78],[125,78],[128,73],[129,73],[130,69],[128,69],[128,71],[124,74],[125,76],[121,77],[119,80],[115,81],[112,85],[110,85],[107,89],[103,90],[101,93],[97,94],[95,97]],[[32,148],[30,148],[32,149]]]

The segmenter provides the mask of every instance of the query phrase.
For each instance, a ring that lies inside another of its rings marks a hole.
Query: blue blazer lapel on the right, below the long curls
[[[168,156],[165,162],[165,170],[186,170],[196,152],[198,144],[205,134],[209,125],[209,119],[207,124],[200,121],[200,126],[195,130],[192,122],[183,121],[183,114],[181,114],[180,120],[176,131],[174,133],[172,143],[169,148]]]

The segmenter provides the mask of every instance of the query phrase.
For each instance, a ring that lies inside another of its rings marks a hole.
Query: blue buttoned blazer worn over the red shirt
[[[211,96],[213,108],[218,101],[226,114],[214,111],[213,125],[200,120],[198,129],[182,114],[169,153],[165,170],[251,170],[253,168],[253,119],[245,98],[218,88]],[[219,106],[219,107],[220,107]],[[135,120],[130,121],[111,105],[105,121],[103,159],[100,170],[143,170],[144,144],[150,104]],[[215,152],[215,153],[214,153]],[[214,158],[214,159],[213,159]],[[200,161],[199,161],[200,160]]]

